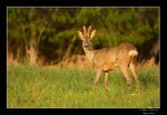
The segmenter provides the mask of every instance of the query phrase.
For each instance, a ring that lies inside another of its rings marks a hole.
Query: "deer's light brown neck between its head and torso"
[[[86,53],[86,56],[88,58],[88,60],[90,62],[92,62],[92,58],[95,56],[95,50],[92,49],[92,46],[90,46],[89,49],[86,49],[85,46],[82,46],[85,53]]]

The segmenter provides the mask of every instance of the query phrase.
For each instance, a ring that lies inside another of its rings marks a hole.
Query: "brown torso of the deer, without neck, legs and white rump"
[[[136,50],[130,43],[121,43],[118,46],[101,49],[95,51],[92,64],[95,67],[101,67],[101,70],[112,70],[119,64],[128,64],[130,62],[129,52]]]

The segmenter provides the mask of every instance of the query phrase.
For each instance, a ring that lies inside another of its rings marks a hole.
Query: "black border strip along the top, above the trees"
[[[160,0],[6,0],[10,6],[38,7],[159,7]]]

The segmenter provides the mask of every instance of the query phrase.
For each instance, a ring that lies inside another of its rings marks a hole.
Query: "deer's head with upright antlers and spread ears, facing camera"
[[[86,29],[85,25],[82,27],[82,29],[84,29],[84,34],[82,34],[81,31],[78,31],[78,35],[79,35],[79,38],[80,38],[81,41],[82,41],[82,46],[84,46],[85,49],[90,49],[90,48],[92,46],[92,38],[94,38],[95,34],[96,34],[96,30],[94,30],[94,31],[90,33],[90,31],[91,31],[91,25],[89,25],[88,31],[87,31],[87,29]]]

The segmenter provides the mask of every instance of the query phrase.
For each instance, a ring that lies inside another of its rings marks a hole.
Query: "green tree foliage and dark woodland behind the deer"
[[[82,30],[84,24],[97,30],[96,49],[130,42],[145,50],[143,44],[153,41],[146,49],[150,52],[159,39],[159,8],[8,8],[8,40],[23,43],[24,39],[28,44],[40,41],[41,55],[50,52],[46,56],[56,62],[62,59],[72,38],[77,39],[70,53],[82,52],[77,30]]]

